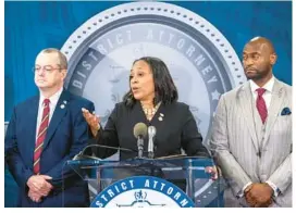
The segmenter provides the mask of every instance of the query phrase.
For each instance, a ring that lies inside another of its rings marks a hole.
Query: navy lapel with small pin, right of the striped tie
[[[60,122],[64,117],[64,115],[67,111],[67,108],[69,108],[69,102],[70,102],[69,100],[70,100],[70,93],[66,90],[63,90],[63,92],[61,93],[61,96],[59,98],[57,106],[54,109],[51,121],[49,123],[46,139],[44,142],[44,149],[49,143],[49,141],[50,141],[51,137],[53,136],[54,131],[57,130]]]

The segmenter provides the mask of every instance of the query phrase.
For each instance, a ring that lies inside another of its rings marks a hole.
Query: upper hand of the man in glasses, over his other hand
[[[27,186],[32,192],[37,192],[38,195],[46,197],[53,188],[47,179],[52,178],[47,175],[33,175],[28,178]]]

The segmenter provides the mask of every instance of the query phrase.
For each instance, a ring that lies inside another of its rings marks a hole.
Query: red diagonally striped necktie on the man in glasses
[[[40,173],[40,156],[42,152],[42,146],[44,141],[46,139],[46,133],[48,128],[48,122],[49,122],[49,99],[44,100],[44,114],[41,124],[39,126],[38,136],[35,145],[34,150],[34,173],[39,174]]]

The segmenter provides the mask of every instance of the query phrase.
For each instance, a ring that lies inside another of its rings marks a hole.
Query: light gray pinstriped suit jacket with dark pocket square
[[[260,121],[249,82],[224,93],[211,129],[210,148],[229,188],[225,206],[247,205],[236,198],[251,183],[272,181],[281,190],[274,204],[292,206],[292,87],[275,79],[266,125]]]

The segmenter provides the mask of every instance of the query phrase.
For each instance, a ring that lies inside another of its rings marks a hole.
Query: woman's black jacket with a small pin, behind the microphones
[[[159,120],[163,114],[162,121]],[[174,102],[161,104],[149,122],[139,102],[131,109],[124,102],[118,103],[111,113],[104,129],[100,129],[96,141],[92,143],[121,147],[134,150],[134,152],[121,151],[120,159],[125,160],[137,156],[137,139],[134,136],[134,126],[137,123],[155,126],[157,134],[155,145],[157,146],[156,158],[181,154],[183,148],[187,155],[209,156],[207,149],[202,146],[202,137],[198,133],[195,118],[185,103]],[[147,156],[148,136],[144,139],[144,155]],[[99,158],[114,154],[116,150],[95,149]]]

